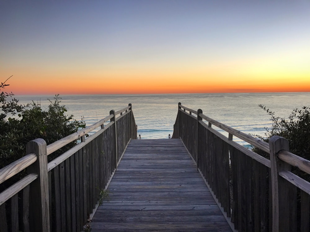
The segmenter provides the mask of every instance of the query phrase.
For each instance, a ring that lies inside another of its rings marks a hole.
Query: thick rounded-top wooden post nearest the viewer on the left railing
[[[50,231],[50,210],[48,195],[47,146],[43,139],[32,140],[26,145],[26,153],[34,152],[38,159],[27,168],[28,173],[38,174],[30,184],[29,221],[31,231]],[[17,223],[16,221],[13,223]]]

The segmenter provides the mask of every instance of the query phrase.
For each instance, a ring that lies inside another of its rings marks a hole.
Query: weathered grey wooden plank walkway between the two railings
[[[179,139],[131,140],[91,223],[99,231],[232,231]]]

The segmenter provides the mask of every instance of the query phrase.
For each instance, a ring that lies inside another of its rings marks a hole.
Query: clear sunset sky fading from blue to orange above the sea
[[[0,1],[14,94],[310,92],[310,0]]]

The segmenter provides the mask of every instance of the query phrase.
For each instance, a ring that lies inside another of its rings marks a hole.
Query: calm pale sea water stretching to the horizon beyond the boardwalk
[[[48,98],[54,96],[15,96],[20,103],[41,102],[44,109]],[[264,127],[270,127],[268,114],[259,104],[287,118],[294,108],[310,106],[307,93],[213,93],[213,94],[157,94],[157,95],[62,95],[62,104],[68,114],[80,120],[83,116],[89,126],[107,116],[110,110],[120,110],[132,103],[138,134],[142,139],[168,138],[178,111],[178,102],[193,110],[231,126],[239,131],[264,136]],[[226,132],[223,132],[224,134]],[[227,134],[227,133],[226,133]],[[226,135],[225,134],[225,135]],[[228,135],[226,135],[228,136]],[[234,139],[243,144],[241,140]]]

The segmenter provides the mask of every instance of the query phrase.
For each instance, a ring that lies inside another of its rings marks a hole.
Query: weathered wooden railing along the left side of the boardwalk
[[[85,138],[97,127],[101,127],[99,131]],[[78,138],[81,143],[47,162],[48,155]],[[136,138],[137,126],[129,104],[55,143],[30,141],[27,155],[0,170],[0,184],[21,171],[27,172],[0,193],[0,231],[83,231],[126,145]]]

